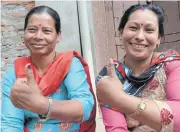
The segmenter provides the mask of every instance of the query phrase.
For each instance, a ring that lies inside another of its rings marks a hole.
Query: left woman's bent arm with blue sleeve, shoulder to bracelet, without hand
[[[89,119],[94,106],[94,98],[86,79],[81,62],[74,57],[70,71],[64,80],[70,100],[53,100],[52,118],[75,123]]]

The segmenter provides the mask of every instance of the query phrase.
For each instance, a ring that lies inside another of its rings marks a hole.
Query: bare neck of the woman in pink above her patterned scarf
[[[135,76],[139,76],[143,73],[151,64],[153,54],[144,60],[135,60],[132,57],[125,56],[124,64],[133,71]]]

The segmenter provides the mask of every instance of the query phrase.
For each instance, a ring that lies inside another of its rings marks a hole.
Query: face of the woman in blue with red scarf
[[[30,16],[25,29],[24,42],[31,54],[45,55],[55,50],[60,33],[56,33],[54,19],[46,14]]]

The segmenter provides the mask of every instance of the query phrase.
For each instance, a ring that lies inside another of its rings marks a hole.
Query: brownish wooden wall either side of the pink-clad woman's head
[[[124,46],[120,39],[118,26],[125,10],[138,3],[147,2],[145,0],[92,1],[97,73],[107,64],[109,58],[119,60],[124,56]],[[167,49],[180,51],[180,2],[153,1],[152,3],[160,5],[165,11],[165,36],[162,38],[158,51]]]

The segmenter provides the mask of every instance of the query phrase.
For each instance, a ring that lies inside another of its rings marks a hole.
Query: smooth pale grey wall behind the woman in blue
[[[77,1],[35,0],[36,6],[46,5],[56,10],[61,19],[61,40],[56,45],[57,52],[76,50],[81,54]]]

